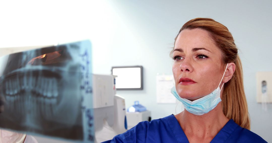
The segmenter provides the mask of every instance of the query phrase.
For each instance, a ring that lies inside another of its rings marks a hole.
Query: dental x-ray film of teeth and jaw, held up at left
[[[0,128],[93,142],[91,43],[0,57]]]

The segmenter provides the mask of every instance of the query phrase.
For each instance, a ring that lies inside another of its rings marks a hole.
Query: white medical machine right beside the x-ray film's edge
[[[95,142],[126,132],[125,99],[116,95],[113,75],[93,74]]]

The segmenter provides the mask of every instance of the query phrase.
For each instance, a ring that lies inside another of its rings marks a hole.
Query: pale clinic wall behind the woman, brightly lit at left
[[[228,27],[240,48],[251,131],[272,142],[272,106],[264,112],[256,103],[255,80],[256,72],[272,71],[271,4],[245,0],[0,2],[0,47],[91,39],[94,73],[110,74],[112,66],[144,67],[144,90],[117,94],[126,98],[126,107],[139,100],[157,119],[175,114],[175,104],[156,103],[156,74],[172,74],[168,55],[178,30],[192,18],[213,18]]]

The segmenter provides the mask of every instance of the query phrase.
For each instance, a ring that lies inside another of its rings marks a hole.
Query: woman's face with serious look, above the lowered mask
[[[193,101],[214,91],[225,67],[221,51],[208,32],[185,29],[178,35],[174,47],[172,71],[178,95]]]

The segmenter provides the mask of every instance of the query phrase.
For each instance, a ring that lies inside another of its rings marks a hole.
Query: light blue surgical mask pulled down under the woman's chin
[[[225,72],[227,70],[228,64],[226,66],[226,69],[224,71],[223,77],[225,75]],[[197,100],[194,101],[190,101],[188,99],[185,98],[181,98],[177,91],[176,91],[176,87],[172,87],[171,89],[171,93],[184,105],[184,108],[194,114],[194,115],[203,115],[205,113],[210,112],[212,109],[214,109],[217,104],[219,102],[221,102],[221,98],[220,98],[220,92],[224,86],[224,83],[222,85],[222,88],[220,89],[220,84],[223,80],[223,77],[217,87],[217,89],[215,89],[212,93],[210,93],[209,95],[206,95],[202,98],[199,98]]]

